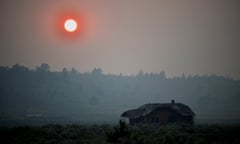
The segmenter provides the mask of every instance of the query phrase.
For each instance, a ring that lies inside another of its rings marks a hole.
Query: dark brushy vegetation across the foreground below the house
[[[46,125],[0,128],[4,144],[239,144],[240,125]]]

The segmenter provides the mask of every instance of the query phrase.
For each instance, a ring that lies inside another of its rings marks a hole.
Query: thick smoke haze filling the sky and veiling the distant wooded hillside
[[[114,123],[171,100],[239,122],[239,13],[239,0],[1,0],[0,125]]]

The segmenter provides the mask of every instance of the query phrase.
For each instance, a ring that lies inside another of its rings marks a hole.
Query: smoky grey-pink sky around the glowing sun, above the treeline
[[[81,34],[63,35],[74,14]],[[1,0],[0,65],[240,79],[239,0]]]

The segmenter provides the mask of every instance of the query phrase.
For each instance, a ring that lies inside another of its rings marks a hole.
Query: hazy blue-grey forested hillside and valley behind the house
[[[51,71],[48,64],[0,67],[1,125],[116,124],[128,109],[172,99],[189,105],[197,122],[240,120],[240,80],[224,76],[166,77],[164,71],[125,76],[103,74],[100,68]]]

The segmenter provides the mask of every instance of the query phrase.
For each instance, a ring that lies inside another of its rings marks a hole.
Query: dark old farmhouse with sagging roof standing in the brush
[[[137,109],[128,110],[121,114],[129,118],[130,124],[138,123],[188,123],[193,124],[195,113],[182,103],[150,103],[144,104]]]

